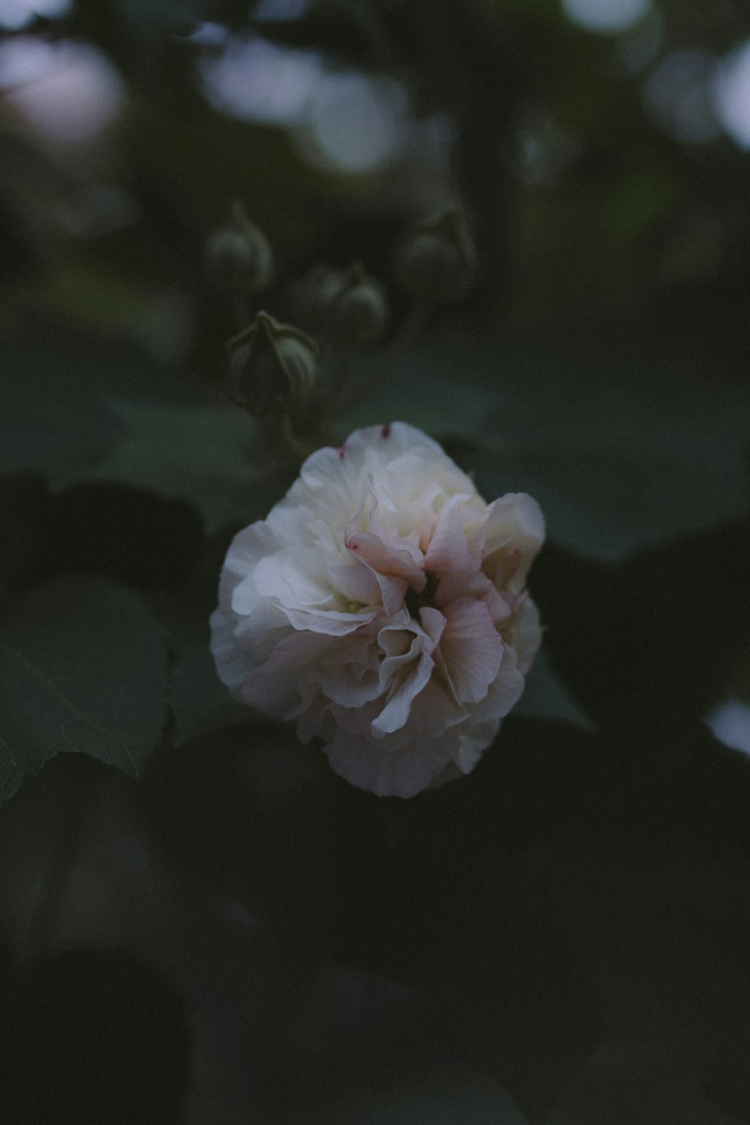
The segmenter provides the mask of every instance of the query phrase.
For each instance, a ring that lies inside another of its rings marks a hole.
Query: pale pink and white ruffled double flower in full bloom
[[[414,426],[358,430],[235,537],[219,676],[362,789],[412,796],[467,774],[540,645],[524,583],[543,538],[531,496],[487,504]]]

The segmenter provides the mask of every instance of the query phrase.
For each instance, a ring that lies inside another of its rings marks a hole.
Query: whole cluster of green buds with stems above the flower
[[[386,287],[359,263],[349,269],[317,266],[288,295],[296,318],[313,335],[264,312],[247,324],[249,298],[268,286],[272,255],[265,235],[238,205],[233,219],[211,235],[206,248],[210,277],[237,299],[245,323],[227,345],[232,399],[261,420],[269,434],[284,434],[295,452],[309,452],[326,440],[327,424],[340,407],[352,405],[351,399],[340,403],[352,349],[386,335],[390,323]],[[425,310],[464,297],[476,272],[476,250],[459,208],[405,236],[394,255],[394,276],[409,298],[409,309],[386,349],[387,361],[365,376],[359,397],[363,387],[367,393],[389,374]],[[329,362],[333,374],[326,370]]]

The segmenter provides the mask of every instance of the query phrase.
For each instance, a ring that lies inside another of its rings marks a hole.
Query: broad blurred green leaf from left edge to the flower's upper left
[[[265,516],[291,483],[268,458],[261,467],[244,414],[205,405],[186,375],[137,348],[30,324],[0,357],[0,472],[153,489],[195,504],[209,532]]]

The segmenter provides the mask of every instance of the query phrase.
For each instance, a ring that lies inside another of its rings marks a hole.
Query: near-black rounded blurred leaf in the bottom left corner
[[[7,1125],[179,1120],[191,1034],[183,996],[151,958],[55,951],[13,999]]]

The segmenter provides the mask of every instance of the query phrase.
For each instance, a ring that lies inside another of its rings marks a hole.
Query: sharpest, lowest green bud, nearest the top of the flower
[[[299,328],[259,313],[227,346],[235,398],[251,414],[283,414],[310,397],[318,346]]]

